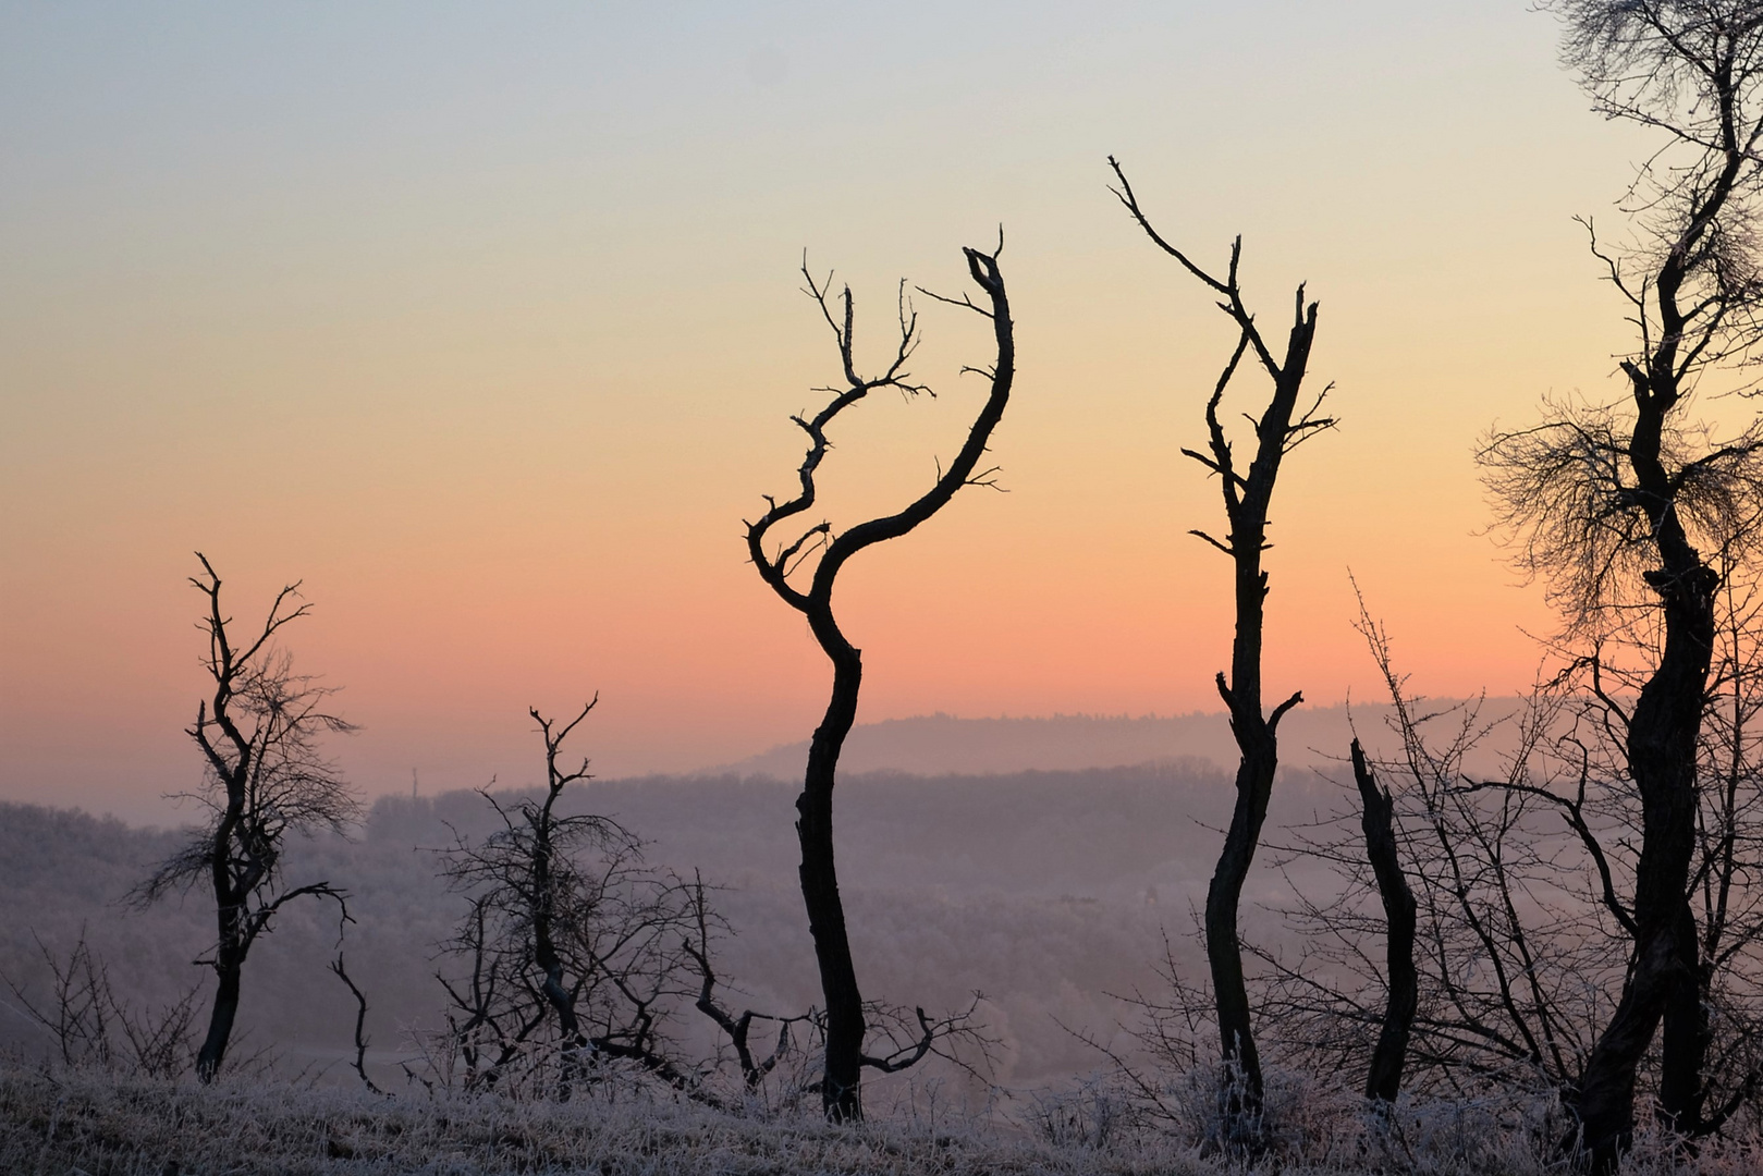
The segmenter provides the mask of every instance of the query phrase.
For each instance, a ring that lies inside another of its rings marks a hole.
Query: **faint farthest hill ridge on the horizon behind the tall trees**
[[[1440,711],[1453,702],[1428,700],[1426,711]],[[1483,716],[1491,719],[1513,714],[1521,700],[1488,698],[1481,705]],[[1280,758],[1287,767],[1324,767],[1345,760],[1354,730],[1372,749],[1393,746],[1386,726],[1387,716],[1387,705],[1298,707],[1280,723]],[[961,719],[938,712],[860,723],[844,744],[839,767],[850,772],[943,776],[1070,772],[1181,758],[1211,760],[1224,767],[1234,765],[1236,756],[1236,742],[1224,712],[1141,718],[1054,714],[1021,719]],[[707,769],[707,774],[793,779],[806,762],[804,739]]]

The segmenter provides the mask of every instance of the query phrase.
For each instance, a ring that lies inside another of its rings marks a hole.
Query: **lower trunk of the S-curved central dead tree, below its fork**
[[[802,904],[815,936],[820,991],[827,1005],[827,1061],[822,1104],[834,1121],[860,1120],[864,998],[857,987],[852,943],[844,931],[844,901],[832,860],[832,786],[844,737],[857,721],[857,691],[862,686],[862,654],[832,624],[811,617],[822,647],[832,658],[832,700],[807,748],[807,776],[795,800],[795,834],[802,845]]]

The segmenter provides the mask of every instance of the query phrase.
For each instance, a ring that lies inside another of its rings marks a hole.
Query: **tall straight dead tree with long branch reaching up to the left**
[[[1243,897],[1243,882],[1248,878],[1255,846],[1261,841],[1261,827],[1268,816],[1268,799],[1273,793],[1273,776],[1278,770],[1278,726],[1287,711],[1303,702],[1301,693],[1294,693],[1268,714],[1261,700],[1261,647],[1264,633],[1264,607],[1268,596],[1268,573],[1261,566],[1261,554],[1268,545],[1268,508],[1273,502],[1273,487],[1280,474],[1280,462],[1306,437],[1333,427],[1333,420],[1319,416],[1324,388],[1308,409],[1299,404],[1305,372],[1310,365],[1310,347],[1315,342],[1317,303],[1305,305],[1305,287],[1298,287],[1294,298],[1292,326],[1285,340],[1283,358],[1273,349],[1255,326],[1255,316],[1243,303],[1243,289],[1238,284],[1238,261],[1243,256],[1243,238],[1231,245],[1231,263],[1225,277],[1218,279],[1197,266],[1179,249],[1171,245],[1151,226],[1151,220],[1139,208],[1139,201],[1127,182],[1127,173],[1111,155],[1109,166],[1120,180],[1114,196],[1132,213],[1139,227],[1174,257],[1183,270],[1192,273],[1208,289],[1218,294],[1218,309],[1224,310],[1238,330],[1236,349],[1218,377],[1211,398],[1206,402],[1206,450],[1183,450],[1218,478],[1224,495],[1225,520],[1231,529],[1224,540],[1216,540],[1204,531],[1192,531],[1211,547],[1231,557],[1234,568],[1236,592],[1236,635],[1231,642],[1231,675],[1218,674],[1218,696],[1224,698],[1231,714],[1231,732],[1241,749],[1241,762],[1236,774],[1236,808],[1231,815],[1231,829],[1225,834],[1224,852],[1218,855],[1218,869],[1213,873],[1206,890],[1206,957],[1211,964],[1213,998],[1218,1007],[1218,1038],[1224,1049],[1227,1070],[1241,1070],[1241,1081],[1231,1081],[1232,1105],[1227,1116],[1243,1125],[1243,1143],[1259,1146],[1261,1121],[1261,1058],[1255,1051],[1255,1035],[1248,1005],[1248,991],[1243,982],[1243,947],[1238,938],[1238,906]],[[1250,458],[1248,473],[1239,473],[1232,443],[1218,420],[1218,406],[1225,388],[1236,376],[1245,356],[1253,354],[1253,361],[1273,381],[1273,397],[1255,425],[1255,455]],[[1238,1093],[1239,1091],[1239,1093]]]

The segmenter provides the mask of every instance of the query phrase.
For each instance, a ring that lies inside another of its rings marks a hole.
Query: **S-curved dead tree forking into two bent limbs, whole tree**
[[[894,390],[903,395],[931,391],[927,386],[913,383],[906,372],[906,363],[919,342],[919,316],[906,300],[904,282],[899,294],[899,344],[894,349],[894,358],[880,376],[864,377],[857,374],[855,305],[850,287],[844,287],[839,307],[834,309],[830,279],[816,282],[804,264],[802,277],[807,280],[807,293],[825,316],[827,326],[832,328],[844,383],[822,390],[830,393],[832,400],[820,413],[792,418],[807,434],[807,455],[799,471],[800,490],[797,495],[786,501],[767,495],[767,511],[756,522],[748,524],[748,554],[753,566],[786,605],[807,617],[815,640],[832,661],[832,698],[809,742],[802,795],[795,802],[799,815],[795,829],[802,848],[802,901],[815,938],[815,959],[820,966],[820,987],[825,1000],[827,1046],[822,1098],[827,1116],[832,1120],[862,1118],[862,1070],[864,1067],[885,1068],[880,1065],[880,1058],[864,1053],[864,998],[857,986],[857,968],[852,963],[844,903],[839,897],[839,878],[832,855],[832,790],[837,781],[839,751],[857,721],[857,695],[864,672],[862,652],[852,645],[834,617],[832,585],[844,564],[864,548],[908,534],[948,504],[963,487],[993,485],[993,471],[980,471],[978,462],[986,455],[993,430],[1003,418],[1005,404],[1010,400],[1010,383],[1015,376],[1015,339],[1003,272],[998,268],[1000,252],[1003,252],[1001,238],[998,250],[991,254],[977,249],[963,250],[968,259],[968,275],[986,296],[984,307],[968,296],[952,300],[922,291],[938,301],[950,301],[984,316],[991,321],[996,340],[996,361],[991,368],[964,368],[987,377],[991,393],[948,469],[941,471],[929,490],[896,515],[871,518],[837,534],[832,531],[832,524],[818,522],[793,540],[769,547],[767,541],[774,527],[815,508],[815,478],[829,450],[827,428],[841,413],[878,390]],[[807,587],[795,587],[792,575],[816,554],[818,561],[813,562]]]

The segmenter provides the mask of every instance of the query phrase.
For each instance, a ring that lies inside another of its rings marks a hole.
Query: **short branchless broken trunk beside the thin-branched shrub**
[[[1409,880],[1402,875],[1396,855],[1395,800],[1377,786],[1365,749],[1352,741],[1352,779],[1359,785],[1359,827],[1365,830],[1365,852],[1377,875],[1377,892],[1384,899],[1386,968],[1389,1003],[1384,1007],[1384,1028],[1372,1051],[1372,1067],[1365,1076],[1365,1097],[1391,1104],[1402,1091],[1402,1067],[1409,1054],[1409,1031],[1419,1009],[1421,986],[1414,968],[1416,904]]]

